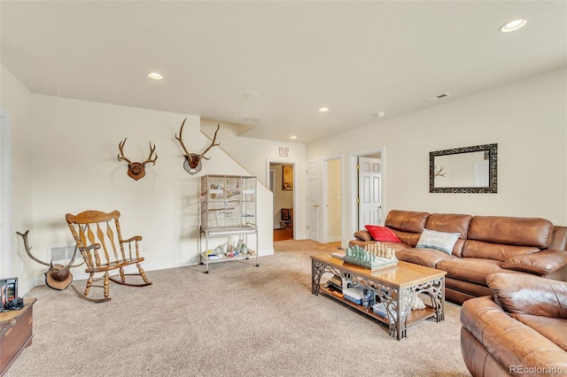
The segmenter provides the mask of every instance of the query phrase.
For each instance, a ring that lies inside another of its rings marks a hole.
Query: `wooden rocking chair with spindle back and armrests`
[[[119,218],[120,212],[118,211],[110,213],[86,211],[77,215],[70,213],[66,215],[67,225],[87,265],[85,272],[89,273],[89,280],[87,281],[84,294],[79,289],[76,289],[74,285],[71,287],[78,296],[93,303],[110,301],[109,281],[132,287],[151,285],[140,266],[140,263],[144,261],[144,258],[140,257],[138,250],[138,242],[142,241],[142,236],[136,235],[128,238],[128,240],[122,240]],[[114,235],[118,236],[120,250],[116,248]],[[128,246],[128,250],[125,250],[126,246]],[[124,266],[134,264],[138,268],[138,273],[124,273]],[[109,276],[109,271],[115,269],[120,269],[120,280],[116,279],[118,275]],[[95,273],[104,273],[104,276],[95,279]],[[137,284],[126,282],[126,276],[130,275],[139,275],[144,282]],[[93,285],[93,281],[101,279],[104,280],[102,286]],[[89,297],[90,287],[103,288],[104,298]]]

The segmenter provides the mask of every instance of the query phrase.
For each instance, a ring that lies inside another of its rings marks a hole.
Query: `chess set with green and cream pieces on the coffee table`
[[[369,244],[364,249],[356,245],[346,249],[343,261],[351,265],[361,265],[371,271],[398,265],[395,251],[380,242]]]

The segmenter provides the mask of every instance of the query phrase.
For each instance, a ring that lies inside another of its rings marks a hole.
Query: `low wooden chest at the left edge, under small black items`
[[[32,343],[35,301],[35,298],[26,298],[19,311],[0,312],[0,376]]]

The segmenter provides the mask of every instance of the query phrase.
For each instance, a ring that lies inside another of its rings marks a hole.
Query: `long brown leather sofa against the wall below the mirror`
[[[396,258],[447,271],[446,298],[457,304],[478,296],[493,296],[489,273],[529,273],[567,281],[567,227],[547,219],[471,216],[394,210],[385,227],[401,242],[383,242]],[[416,248],[423,229],[458,233],[451,254]],[[354,233],[349,246],[377,242],[366,229]]]

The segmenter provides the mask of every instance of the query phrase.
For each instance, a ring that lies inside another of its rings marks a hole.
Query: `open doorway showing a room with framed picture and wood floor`
[[[269,189],[274,195],[274,242],[294,238],[293,194],[295,185],[293,164],[269,164]]]

